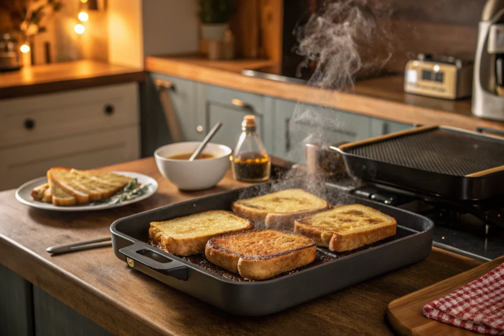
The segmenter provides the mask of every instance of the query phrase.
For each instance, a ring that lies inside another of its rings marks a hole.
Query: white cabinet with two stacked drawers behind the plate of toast
[[[96,168],[140,157],[137,83],[0,100],[0,190],[53,166]]]

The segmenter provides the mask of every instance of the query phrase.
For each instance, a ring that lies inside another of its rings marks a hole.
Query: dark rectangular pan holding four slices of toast
[[[265,281],[246,281],[209,263],[203,255],[177,257],[149,244],[149,223],[208,210],[231,210],[233,201],[270,192],[270,184],[196,198],[115,221],[115,255],[135,270],[215,307],[237,315],[267,315],[422,260],[431,250],[429,219],[370,200],[347,199],[394,217],[397,234],[353,252],[318,248],[311,264]],[[278,189],[277,189],[278,190]],[[334,192],[332,204],[338,204]],[[331,197],[330,197],[331,198]]]

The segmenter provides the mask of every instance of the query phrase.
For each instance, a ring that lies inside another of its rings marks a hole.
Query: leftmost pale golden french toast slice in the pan
[[[149,236],[154,243],[175,255],[203,253],[207,241],[212,237],[254,228],[249,220],[223,210],[205,211],[150,224]]]

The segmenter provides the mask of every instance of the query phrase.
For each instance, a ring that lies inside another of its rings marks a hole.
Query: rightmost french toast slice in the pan
[[[312,238],[319,246],[344,252],[396,234],[396,220],[360,204],[338,206],[297,219],[294,232]]]

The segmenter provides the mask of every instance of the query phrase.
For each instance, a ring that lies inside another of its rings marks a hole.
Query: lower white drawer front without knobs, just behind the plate
[[[17,188],[56,166],[90,169],[140,158],[138,126],[0,150],[0,190]]]

